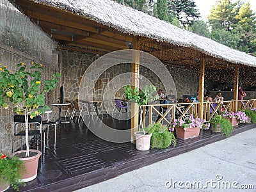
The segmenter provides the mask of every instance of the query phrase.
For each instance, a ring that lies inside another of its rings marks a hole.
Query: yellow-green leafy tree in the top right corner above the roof
[[[256,51],[256,17],[250,3],[219,0],[212,7],[208,19],[212,28],[212,39],[240,51]]]

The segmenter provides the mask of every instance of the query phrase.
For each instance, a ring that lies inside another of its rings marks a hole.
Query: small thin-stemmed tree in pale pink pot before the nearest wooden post
[[[150,148],[150,138],[152,133],[147,133],[143,127],[141,105],[152,102],[154,92],[156,92],[156,86],[154,85],[146,85],[141,92],[138,90],[138,88],[132,88],[131,85],[125,86],[124,88],[126,99],[138,103],[138,106],[140,107],[139,130],[134,132],[136,148],[138,150],[149,150]]]

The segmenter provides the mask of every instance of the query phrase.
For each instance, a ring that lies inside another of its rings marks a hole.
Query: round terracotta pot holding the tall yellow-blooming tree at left
[[[29,182],[37,176],[38,160],[41,156],[41,152],[39,150],[29,149],[29,154],[30,152],[33,152],[35,156],[19,157],[22,153],[26,154],[26,150],[19,150],[13,153],[13,156],[16,155],[19,157],[20,161],[24,161],[25,170],[22,173],[20,182]]]

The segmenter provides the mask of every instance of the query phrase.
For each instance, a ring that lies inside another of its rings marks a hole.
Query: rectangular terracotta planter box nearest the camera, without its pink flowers
[[[177,138],[186,140],[188,138],[198,137],[200,133],[200,127],[186,128],[186,130],[184,130],[184,127],[175,127],[175,131]]]

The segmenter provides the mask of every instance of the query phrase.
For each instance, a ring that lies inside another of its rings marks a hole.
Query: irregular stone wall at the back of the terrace
[[[83,74],[86,68],[88,68],[93,61],[97,60],[99,56],[74,51],[62,51],[61,55],[65,100],[78,99],[79,83]],[[196,94],[199,81],[198,72],[174,67],[169,68],[169,70],[177,89],[178,98],[182,98],[182,95]],[[108,70],[106,70],[96,81],[93,88],[93,97],[97,100],[102,100],[102,93],[104,93],[106,86],[111,87],[111,90],[115,92],[115,97],[124,97],[124,88],[122,84],[127,84],[127,79],[131,80],[131,74],[125,73],[131,73],[131,63],[122,63],[108,68]],[[118,78],[118,82],[115,81],[115,84],[109,84],[114,77],[120,74],[125,75],[121,75],[120,78]],[[157,90],[160,88],[163,89],[165,95],[169,92],[169,90],[164,90],[164,86],[160,79],[147,68],[141,66],[140,74],[149,79],[150,82],[156,86]]]

